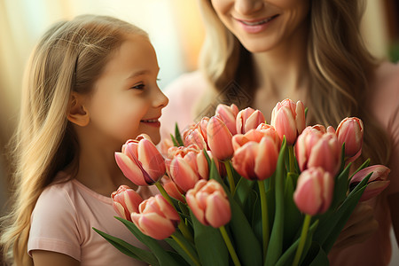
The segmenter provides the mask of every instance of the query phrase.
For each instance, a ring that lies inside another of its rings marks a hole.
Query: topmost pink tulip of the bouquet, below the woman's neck
[[[305,129],[305,107],[301,101],[295,104],[291,99],[278,102],[271,113],[270,124],[278,131],[281,140],[286,136],[287,145],[293,145]]]

